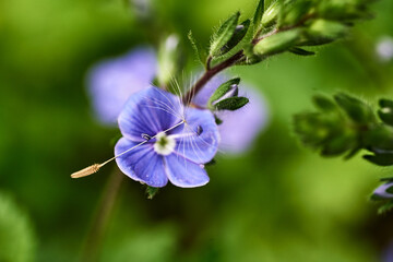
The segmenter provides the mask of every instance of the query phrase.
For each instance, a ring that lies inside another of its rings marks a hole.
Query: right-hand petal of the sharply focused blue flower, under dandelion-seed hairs
[[[219,133],[215,119],[209,110],[188,108],[187,123],[181,132],[174,132],[178,136],[175,147],[176,154],[194,163],[207,163],[217,153]]]

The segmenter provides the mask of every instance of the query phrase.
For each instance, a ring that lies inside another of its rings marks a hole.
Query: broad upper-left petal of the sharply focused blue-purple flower
[[[143,141],[142,134],[154,136],[182,118],[182,106],[177,96],[150,87],[133,94],[119,116],[119,128],[124,138]]]

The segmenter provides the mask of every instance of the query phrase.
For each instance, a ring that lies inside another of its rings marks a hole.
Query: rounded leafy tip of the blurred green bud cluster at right
[[[359,148],[376,145],[367,139],[374,128],[374,115],[364,102],[340,93],[334,102],[325,96],[314,96],[318,112],[295,115],[294,128],[301,142],[323,156],[353,156]]]

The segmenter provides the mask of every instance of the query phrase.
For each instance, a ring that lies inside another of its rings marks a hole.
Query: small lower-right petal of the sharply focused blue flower
[[[164,158],[169,181],[180,188],[195,188],[209,182],[206,171],[193,162],[175,154]]]

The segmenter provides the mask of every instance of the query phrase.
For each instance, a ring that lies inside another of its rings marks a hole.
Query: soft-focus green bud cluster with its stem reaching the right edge
[[[365,102],[340,93],[330,99],[313,98],[313,112],[295,115],[294,128],[301,142],[321,155],[353,156],[367,150],[365,159],[379,165],[393,165],[393,100],[381,99],[378,115]]]

